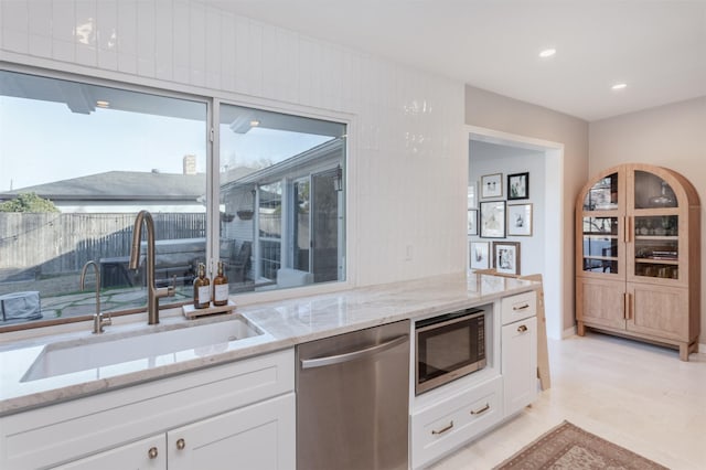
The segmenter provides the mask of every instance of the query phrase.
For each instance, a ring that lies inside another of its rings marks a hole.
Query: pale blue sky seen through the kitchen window
[[[183,157],[206,171],[204,121],[0,96],[0,192],[106,171],[182,173]],[[227,128],[227,126],[226,126]],[[253,129],[223,132],[224,164],[281,160],[330,137]]]

